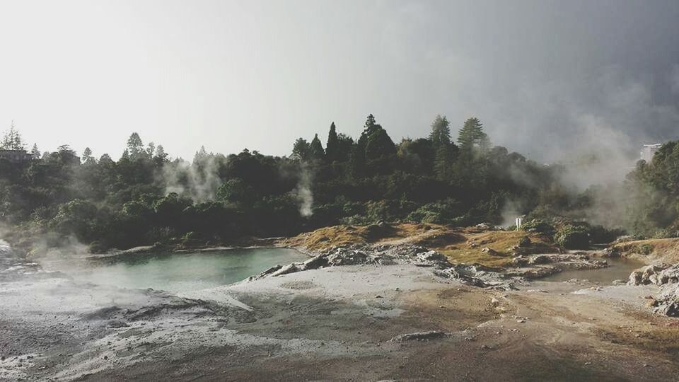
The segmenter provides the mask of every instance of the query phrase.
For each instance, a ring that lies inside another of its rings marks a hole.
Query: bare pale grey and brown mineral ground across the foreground
[[[13,280],[0,378],[676,379],[678,321],[646,306],[657,288],[531,281],[393,246],[184,294]]]

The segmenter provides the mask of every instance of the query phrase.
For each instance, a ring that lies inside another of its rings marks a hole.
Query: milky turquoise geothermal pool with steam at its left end
[[[286,248],[233,249],[210,253],[135,254],[90,260],[63,270],[78,282],[170,292],[196,291],[247,279],[274,265],[306,260]]]

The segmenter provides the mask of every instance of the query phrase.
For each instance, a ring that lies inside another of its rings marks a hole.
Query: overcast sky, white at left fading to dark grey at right
[[[678,1],[0,0],[0,130],[119,158],[129,134],[288,155],[373,113],[479,117],[538,161],[679,139]]]

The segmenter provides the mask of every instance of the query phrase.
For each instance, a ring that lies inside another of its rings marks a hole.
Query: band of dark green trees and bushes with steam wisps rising
[[[453,129],[438,115],[428,137],[395,144],[368,115],[355,141],[333,122],[325,147],[319,134],[296,139],[289,157],[248,149],[224,156],[202,147],[191,163],[144,145],[137,133],[117,161],[96,158],[90,148],[79,157],[69,146],[40,156],[33,146],[32,161],[0,159],[0,219],[20,227],[15,231],[26,240],[73,236],[93,250],[229,243],[381,220],[468,226],[528,214],[584,221],[606,205],[617,214],[612,225],[645,235],[676,231],[677,142],[663,146],[653,163],[637,165],[621,186],[621,204],[614,199],[620,192],[574,192],[561,181],[563,166],[492,146],[477,118],[457,127],[456,143]],[[15,129],[2,145],[25,148]],[[308,211],[301,214],[303,203]]]

